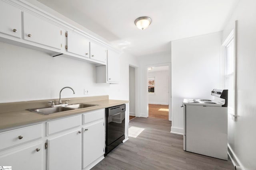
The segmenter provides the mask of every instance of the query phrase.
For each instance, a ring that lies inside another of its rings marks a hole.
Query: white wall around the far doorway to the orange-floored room
[[[169,44],[170,46],[170,44]],[[170,47],[171,49],[171,47]],[[152,55],[141,56],[138,58],[140,62],[140,79],[139,79],[139,93],[140,93],[140,112],[137,117],[148,117],[148,67],[151,66],[171,66],[171,50],[169,53],[156,53]],[[171,69],[169,69],[169,74]],[[170,88],[170,83],[169,83]],[[170,93],[169,93],[170,98]],[[170,110],[170,105],[169,105]],[[171,120],[171,114],[169,114],[169,120]]]

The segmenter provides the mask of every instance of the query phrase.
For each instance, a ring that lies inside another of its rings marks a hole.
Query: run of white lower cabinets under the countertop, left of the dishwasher
[[[0,132],[0,166],[87,170],[104,158],[105,109]]]

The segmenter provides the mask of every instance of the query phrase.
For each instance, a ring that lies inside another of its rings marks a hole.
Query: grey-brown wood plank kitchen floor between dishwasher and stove
[[[129,127],[144,128],[129,137],[92,170],[234,170],[231,161],[183,150],[183,136],[170,133],[171,121],[136,117]]]

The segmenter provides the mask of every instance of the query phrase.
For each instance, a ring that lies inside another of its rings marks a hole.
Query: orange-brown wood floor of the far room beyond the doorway
[[[160,104],[148,104],[148,117],[169,120],[169,106]]]

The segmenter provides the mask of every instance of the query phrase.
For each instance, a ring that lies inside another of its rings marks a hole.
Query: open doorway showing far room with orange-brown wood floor
[[[148,117],[170,120],[169,66],[148,67]]]

